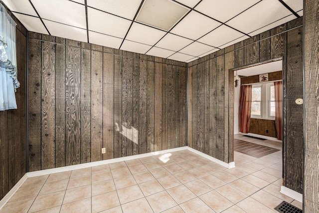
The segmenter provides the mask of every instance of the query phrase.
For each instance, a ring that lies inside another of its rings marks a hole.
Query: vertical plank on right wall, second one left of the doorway
[[[218,56],[216,59],[216,158],[224,161],[224,96],[225,96],[225,83],[224,83],[224,55]]]

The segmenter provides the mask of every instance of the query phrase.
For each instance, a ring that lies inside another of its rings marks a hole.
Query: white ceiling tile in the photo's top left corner
[[[2,1],[11,11],[38,16],[28,0],[2,0]]]

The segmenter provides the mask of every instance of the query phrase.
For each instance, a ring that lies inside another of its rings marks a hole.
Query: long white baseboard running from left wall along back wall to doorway
[[[53,168],[53,169],[47,169],[47,170],[40,170],[40,171],[35,171],[35,172],[28,172],[26,173],[19,181],[14,185],[14,187],[1,199],[0,201],[0,210],[2,207],[10,200],[10,198],[13,196],[13,194],[20,188],[20,186],[24,183],[24,181],[27,178],[30,177],[36,177],[40,175],[49,175],[53,173],[58,173],[58,172],[65,172],[65,171],[70,171],[70,170],[76,170],[76,169],[82,169],[82,168],[87,168],[87,167],[94,167],[94,166],[99,166],[103,164],[111,164],[111,163],[116,163],[116,162],[121,162],[121,161],[128,161],[128,160],[133,160],[133,159],[138,159],[138,158],[144,158],[144,157],[149,157],[149,156],[154,156],[154,155],[160,155],[160,154],[165,154],[169,152],[176,152],[176,151],[181,151],[181,150],[189,150],[191,152],[194,152],[204,158],[207,158],[217,164],[220,164],[221,166],[224,166],[226,168],[234,168],[235,167],[235,162],[230,162],[225,163],[223,161],[220,161],[216,158],[213,158],[209,155],[206,155],[204,153],[201,153],[195,149],[192,149],[190,147],[179,147],[179,148],[174,148],[174,149],[168,149],[168,150],[163,150],[163,151],[158,151],[158,152],[151,152],[151,153],[145,153],[145,154],[140,154],[140,155],[133,155],[133,156],[128,156],[128,157],[122,157],[122,158],[114,158],[114,159],[109,159],[109,160],[104,160],[104,161],[96,161],[96,162],[90,162],[90,163],[85,163],[85,164],[78,164],[78,165],[73,165],[73,166],[66,166],[66,167],[59,167],[59,168]]]

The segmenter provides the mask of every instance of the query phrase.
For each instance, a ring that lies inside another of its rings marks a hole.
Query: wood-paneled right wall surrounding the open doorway
[[[233,70],[282,57],[284,185],[302,193],[303,20],[267,30],[188,63],[188,145],[224,162],[233,156]]]

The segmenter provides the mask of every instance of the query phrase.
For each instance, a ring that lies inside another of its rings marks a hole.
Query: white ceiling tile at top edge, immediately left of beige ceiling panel
[[[88,6],[133,20],[141,0],[88,0]]]

